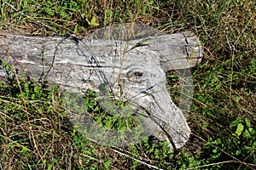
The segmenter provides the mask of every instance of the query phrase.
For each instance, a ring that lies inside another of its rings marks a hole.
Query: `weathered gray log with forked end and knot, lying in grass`
[[[37,81],[93,89],[101,96],[111,93],[133,103],[132,109],[143,114],[144,133],[169,141],[175,149],[189,139],[183,112],[166,90],[165,72],[200,63],[201,44],[190,32],[128,42],[6,34],[0,37],[0,54],[2,61],[12,59],[18,74],[26,71]]]

